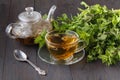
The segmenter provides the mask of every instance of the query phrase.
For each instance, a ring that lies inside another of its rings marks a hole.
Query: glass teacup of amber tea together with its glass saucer
[[[51,61],[49,63],[67,65],[80,61],[85,55],[85,42],[80,40],[74,31],[48,32],[45,36],[45,41],[48,50],[45,52],[46,55],[42,55],[43,48],[39,49],[38,54],[39,57],[46,62],[49,62],[50,60],[47,58],[50,58]],[[45,58],[47,55],[49,55],[49,57]]]

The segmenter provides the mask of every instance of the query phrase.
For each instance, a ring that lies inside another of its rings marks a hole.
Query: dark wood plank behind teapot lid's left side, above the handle
[[[9,23],[16,22],[26,7],[34,7],[34,0],[11,0]]]

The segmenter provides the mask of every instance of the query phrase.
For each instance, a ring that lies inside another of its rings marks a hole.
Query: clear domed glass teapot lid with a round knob
[[[33,11],[33,7],[26,7],[25,12],[19,14],[19,20],[23,22],[35,22],[41,19],[41,14],[37,11]]]

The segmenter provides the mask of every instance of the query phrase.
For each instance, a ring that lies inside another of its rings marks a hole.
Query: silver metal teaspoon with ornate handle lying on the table
[[[35,68],[36,71],[38,71],[38,73],[40,75],[46,75],[46,72],[44,70],[41,70],[39,67],[37,67],[36,65],[34,65],[31,61],[29,61],[27,59],[27,55],[23,51],[15,49],[14,50],[14,57],[18,61],[26,61],[26,62],[28,62],[32,67]]]

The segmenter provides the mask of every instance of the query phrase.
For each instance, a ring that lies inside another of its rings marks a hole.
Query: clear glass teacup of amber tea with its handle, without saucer
[[[45,35],[45,41],[50,56],[55,61],[70,61],[74,54],[83,50],[85,41],[80,40],[74,31],[51,31]]]

